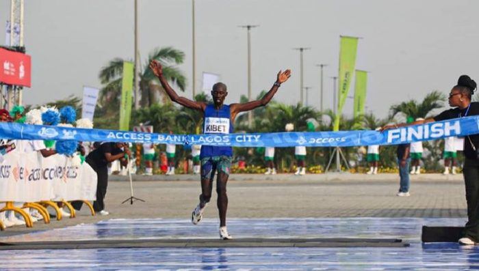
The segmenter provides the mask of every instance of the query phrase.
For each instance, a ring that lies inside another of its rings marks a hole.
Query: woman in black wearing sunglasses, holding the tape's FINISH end
[[[454,107],[443,111],[439,115],[416,121],[412,124],[398,124],[397,126],[385,126],[383,130],[398,126],[409,126],[428,122],[439,122],[445,119],[455,119],[471,115],[479,115],[479,103],[471,102],[472,95],[477,89],[477,84],[467,75],[461,75],[457,85],[452,87],[449,93],[449,105]],[[463,231],[463,237],[458,240],[459,244],[479,243],[479,157],[476,149],[479,148],[479,134],[471,134],[464,139],[464,182],[467,202],[467,223]]]

